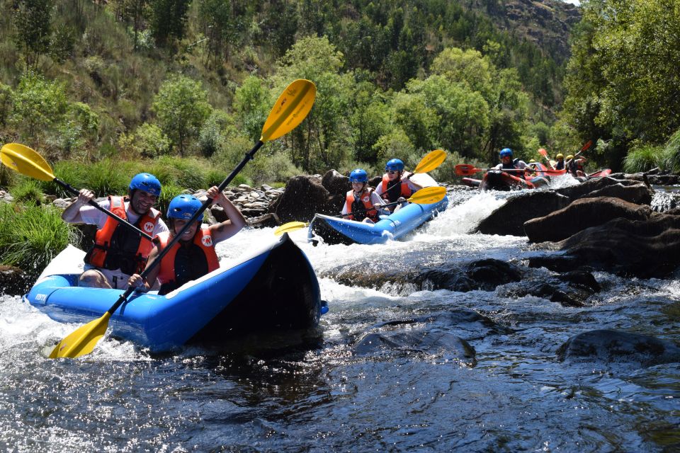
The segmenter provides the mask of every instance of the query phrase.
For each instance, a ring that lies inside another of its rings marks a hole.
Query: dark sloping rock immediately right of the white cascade
[[[569,203],[568,197],[552,190],[523,193],[511,197],[504,205],[494,210],[489,217],[477,225],[475,232],[524,236],[524,222],[560,210]]]

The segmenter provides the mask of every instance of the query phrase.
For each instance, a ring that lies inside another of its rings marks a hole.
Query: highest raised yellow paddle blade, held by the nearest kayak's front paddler
[[[317,87],[308,80],[297,79],[288,85],[264,122],[260,141],[266,143],[278,139],[295,129],[312,110],[316,96]]]

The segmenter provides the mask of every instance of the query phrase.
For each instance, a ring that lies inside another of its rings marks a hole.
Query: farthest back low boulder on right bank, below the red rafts
[[[570,200],[593,197],[617,197],[638,205],[649,205],[653,192],[645,183],[638,180],[618,180],[611,177],[593,178],[579,185],[555,190]]]

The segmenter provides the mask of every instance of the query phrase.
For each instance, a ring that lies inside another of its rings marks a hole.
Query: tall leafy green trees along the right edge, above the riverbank
[[[657,154],[680,130],[680,35],[669,31],[680,28],[680,5],[598,0],[582,6],[560,115],[565,137],[601,139],[606,147],[589,156],[614,169],[629,149],[625,168],[660,163]]]

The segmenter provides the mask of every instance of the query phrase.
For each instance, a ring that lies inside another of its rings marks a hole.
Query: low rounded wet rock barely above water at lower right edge
[[[562,361],[637,362],[650,367],[680,362],[680,348],[668,340],[603,329],[573,336],[560,346],[557,357]]]

